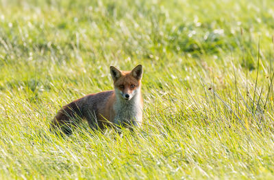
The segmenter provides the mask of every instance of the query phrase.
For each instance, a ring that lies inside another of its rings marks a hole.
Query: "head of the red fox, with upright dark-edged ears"
[[[114,82],[115,93],[119,98],[131,100],[140,91],[142,65],[136,66],[132,71],[121,71],[111,66],[110,74]]]

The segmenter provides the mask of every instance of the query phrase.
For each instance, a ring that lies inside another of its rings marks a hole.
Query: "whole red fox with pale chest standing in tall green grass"
[[[134,131],[142,125],[142,73],[142,65],[132,71],[110,66],[114,90],[91,93],[66,104],[53,118],[51,129],[71,135],[73,127],[86,120],[92,130],[125,127]]]

